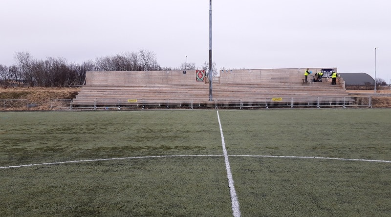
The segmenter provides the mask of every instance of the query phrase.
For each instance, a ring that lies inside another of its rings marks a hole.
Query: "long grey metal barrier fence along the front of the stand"
[[[143,110],[143,109],[252,109],[372,107],[370,97],[292,97],[243,99],[52,99],[52,109]]]

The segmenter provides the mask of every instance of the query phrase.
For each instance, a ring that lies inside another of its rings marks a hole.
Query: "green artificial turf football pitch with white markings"
[[[0,113],[0,216],[389,217],[390,109]]]

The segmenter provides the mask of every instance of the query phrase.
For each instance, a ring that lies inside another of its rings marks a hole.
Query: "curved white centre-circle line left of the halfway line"
[[[128,157],[128,158],[104,158],[104,159],[89,159],[89,160],[71,160],[71,161],[52,162],[52,163],[25,164],[25,165],[18,165],[18,166],[1,166],[0,169],[64,164],[64,163],[105,161],[105,160],[125,160],[125,159],[140,159],[140,158],[170,158],[170,157],[221,157],[221,156],[223,156],[223,155],[162,155],[162,156],[145,156],[145,157]]]

